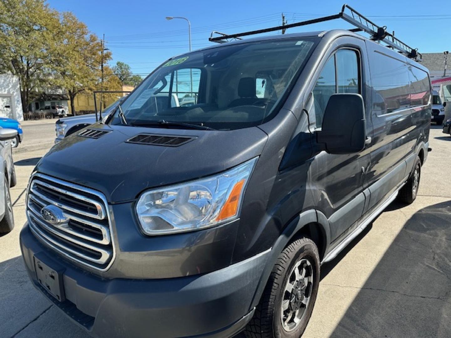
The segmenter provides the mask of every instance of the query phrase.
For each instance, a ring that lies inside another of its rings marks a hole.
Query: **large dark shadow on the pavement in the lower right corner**
[[[331,337],[451,337],[451,201],[404,224]]]

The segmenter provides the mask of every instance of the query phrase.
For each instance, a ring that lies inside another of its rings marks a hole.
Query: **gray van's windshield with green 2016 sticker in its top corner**
[[[317,40],[248,42],[171,59],[129,95],[123,115],[118,109],[110,123],[221,130],[259,125],[276,113]]]

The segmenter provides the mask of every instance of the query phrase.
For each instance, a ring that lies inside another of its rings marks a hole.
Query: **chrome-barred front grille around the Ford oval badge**
[[[46,219],[42,210],[48,206],[57,206],[64,220]],[[61,255],[101,271],[112,264],[108,206],[100,192],[35,174],[28,188],[27,219],[34,235]]]

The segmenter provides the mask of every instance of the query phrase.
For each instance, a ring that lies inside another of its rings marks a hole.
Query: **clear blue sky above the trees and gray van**
[[[71,11],[101,37],[113,60],[123,61],[133,73],[145,75],[173,55],[188,51],[188,25],[184,20],[167,21],[166,16],[184,16],[191,21],[193,50],[209,46],[212,30],[243,32],[336,14],[345,0],[278,1],[161,1],[161,0],[48,0],[59,11]],[[395,31],[395,36],[419,52],[451,50],[449,0],[349,0],[348,5],[376,24]],[[350,28],[343,20],[297,27],[287,32]],[[272,33],[274,34],[274,33]]]

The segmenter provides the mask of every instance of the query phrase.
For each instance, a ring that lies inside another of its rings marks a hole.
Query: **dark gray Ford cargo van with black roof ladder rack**
[[[321,264],[396,196],[414,201],[428,155],[420,55],[356,25],[372,39],[296,33],[177,56],[57,143],[20,234],[36,288],[95,336],[299,337]]]

